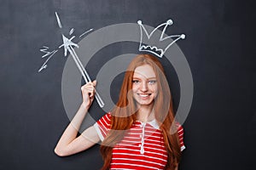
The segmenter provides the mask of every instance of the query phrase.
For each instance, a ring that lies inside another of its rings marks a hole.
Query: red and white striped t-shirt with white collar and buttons
[[[111,114],[108,113],[95,123],[94,127],[103,140],[110,128]],[[183,127],[177,126],[177,133],[183,144]],[[134,122],[131,129],[125,132],[125,137],[113,147],[110,169],[164,169],[167,162],[167,152],[163,135],[157,122]]]

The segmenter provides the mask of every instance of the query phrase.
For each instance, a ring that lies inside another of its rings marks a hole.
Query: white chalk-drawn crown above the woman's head
[[[143,22],[141,20],[137,21],[137,24],[140,26],[141,31],[141,40],[139,45],[139,51],[146,51],[151,54],[155,54],[156,56],[162,58],[163,55],[166,53],[166,50],[172,46],[173,43],[177,42],[179,39],[184,39],[185,35],[172,35],[164,37],[166,34],[166,28],[168,26],[172,26],[173,22],[172,20],[167,20],[165,23],[160,24],[159,26],[155,27],[153,31],[148,33],[146,28],[143,26]],[[154,45],[152,42],[154,42],[152,37],[154,37],[154,34],[157,30],[159,30],[161,27],[164,27],[160,37],[158,39],[157,45]],[[143,36],[145,35],[145,36]],[[150,39],[151,38],[151,39]],[[143,42],[148,42],[148,45],[143,44]],[[150,44],[151,43],[151,44]]]

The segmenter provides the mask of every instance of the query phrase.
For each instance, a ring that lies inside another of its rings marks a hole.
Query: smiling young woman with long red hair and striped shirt
[[[177,169],[183,127],[174,120],[172,98],[160,61],[149,54],[132,59],[113,111],[77,137],[94,99],[96,81],[81,90],[83,103],[55,147],[70,156],[102,140],[102,169]]]

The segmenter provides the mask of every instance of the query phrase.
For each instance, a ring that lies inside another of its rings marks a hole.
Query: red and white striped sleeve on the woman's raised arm
[[[100,139],[103,141],[105,137],[108,134],[108,131],[110,129],[110,124],[111,124],[111,114],[107,113],[106,115],[102,116],[101,119],[99,119],[93,127],[96,128],[96,133],[100,137]]]

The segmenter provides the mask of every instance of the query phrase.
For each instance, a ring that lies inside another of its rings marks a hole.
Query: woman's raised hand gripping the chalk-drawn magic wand
[[[83,104],[86,109],[90,108],[90,105],[94,99],[94,95],[96,93],[96,80],[93,82],[87,82],[84,86],[81,87],[82,95],[83,95]]]

